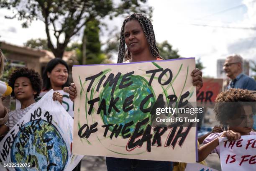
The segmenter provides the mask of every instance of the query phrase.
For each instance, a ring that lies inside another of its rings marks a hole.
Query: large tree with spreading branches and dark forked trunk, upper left
[[[18,20],[25,20],[22,24],[25,28],[33,20],[42,20],[45,23],[49,49],[55,57],[62,58],[72,36],[78,35],[90,20],[100,20],[105,16],[111,19],[131,11],[151,14],[151,7],[141,5],[146,1],[122,0],[116,5],[113,0],[1,0],[0,7],[16,11],[15,15],[6,18],[18,17]],[[51,31],[54,37],[51,37]]]

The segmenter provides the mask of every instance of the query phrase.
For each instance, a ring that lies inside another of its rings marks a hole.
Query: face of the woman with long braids
[[[148,50],[148,41],[137,20],[130,20],[125,24],[124,37],[126,46],[132,54],[139,54]]]

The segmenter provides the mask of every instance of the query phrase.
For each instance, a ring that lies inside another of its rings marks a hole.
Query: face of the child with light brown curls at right
[[[240,115],[237,115],[236,119],[229,120],[228,124],[232,130],[243,134],[251,132],[253,126],[253,110],[252,107],[247,105],[243,106],[243,110]]]

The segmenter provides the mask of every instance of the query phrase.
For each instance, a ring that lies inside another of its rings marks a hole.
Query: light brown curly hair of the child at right
[[[250,105],[254,111],[255,103],[252,102],[256,102],[256,98],[246,89],[228,89],[218,94],[215,102],[215,118],[226,125],[230,118],[241,112],[243,105]]]

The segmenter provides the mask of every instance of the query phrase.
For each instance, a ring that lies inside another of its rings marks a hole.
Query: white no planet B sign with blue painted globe
[[[45,94],[1,141],[5,170],[71,171],[82,159],[72,153],[73,119],[52,94]]]

